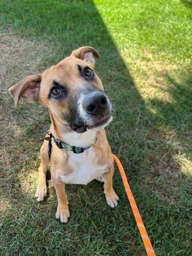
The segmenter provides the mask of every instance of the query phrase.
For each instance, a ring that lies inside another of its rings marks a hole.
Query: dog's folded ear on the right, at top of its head
[[[98,52],[90,46],[84,46],[84,47],[78,48],[77,50],[72,51],[71,57],[78,58],[92,65],[95,64],[94,57],[98,59],[100,58]]]

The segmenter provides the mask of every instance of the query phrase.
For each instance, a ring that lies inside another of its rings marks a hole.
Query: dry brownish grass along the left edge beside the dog
[[[39,115],[47,113],[41,106],[29,106],[26,102],[16,109],[8,88],[28,74],[40,72],[41,58],[48,49],[43,45],[36,45],[35,42],[15,36],[10,30],[0,33],[0,41],[0,154],[2,156],[0,158],[0,190],[3,195],[4,192],[11,191],[12,184],[23,175],[19,173],[25,171],[25,161],[32,162],[32,173],[34,172],[36,163],[33,162],[33,157],[34,154],[37,157],[36,148],[39,149],[40,141],[33,139],[31,141],[31,138],[25,138],[24,134],[26,132],[30,134],[30,126],[36,125],[38,129]],[[20,115],[20,112],[23,115]],[[46,118],[42,122],[45,120]],[[49,124],[40,124],[39,127],[41,128],[42,125],[49,126]],[[21,162],[23,162],[22,168]],[[26,179],[29,184],[22,184],[21,179],[21,189],[25,192],[34,182],[34,173],[32,173]],[[4,204],[1,206],[5,207]]]

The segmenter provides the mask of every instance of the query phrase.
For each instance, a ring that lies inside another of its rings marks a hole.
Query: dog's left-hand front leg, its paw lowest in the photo
[[[60,219],[61,222],[68,222],[70,217],[68,200],[65,194],[65,184],[57,182],[54,177],[51,178],[52,184],[56,190],[58,206],[56,211],[56,218]]]

